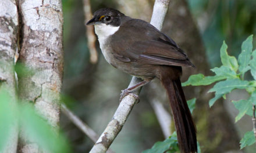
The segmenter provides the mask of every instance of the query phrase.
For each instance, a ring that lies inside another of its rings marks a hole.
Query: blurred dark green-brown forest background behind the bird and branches
[[[96,64],[90,63],[82,0],[62,0],[64,15],[65,72],[62,93],[67,105],[76,115],[98,134],[111,120],[119,105],[119,94],[127,88],[130,75],[116,70],[106,63],[96,42],[99,54]],[[115,8],[137,19],[150,21],[153,0],[93,0],[93,12],[100,8]],[[229,54],[240,53],[241,42],[256,34],[255,0],[171,0],[163,24],[163,32],[173,38],[197,67],[184,68],[182,81],[189,75],[201,72],[211,75],[210,68],[219,66],[219,49],[223,40],[229,46]],[[254,37],[255,41],[255,37]],[[254,44],[255,47],[255,44]],[[247,76],[250,79],[250,75]],[[159,84],[158,81],[153,81]],[[122,131],[111,145],[115,152],[141,152],[151,148],[156,141],[163,141],[162,130],[149,101],[152,95],[159,97],[170,111],[167,97],[161,85],[154,90],[145,86]],[[239,150],[239,141],[252,129],[247,115],[236,124],[236,108],[230,99],[238,100],[248,95],[239,90],[228,94],[226,101],[219,100],[208,107],[212,94],[210,87],[186,87],[187,99],[197,98],[193,112],[202,152],[254,152],[255,145]],[[149,96],[151,95],[151,97]],[[61,129],[66,133],[73,152],[88,152],[94,143],[88,139],[65,115],[61,116]]]

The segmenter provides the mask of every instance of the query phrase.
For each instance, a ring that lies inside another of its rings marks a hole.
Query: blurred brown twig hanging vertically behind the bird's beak
[[[84,17],[86,23],[88,20],[90,20],[93,17],[93,14],[91,13],[91,5],[90,0],[83,0],[84,3]],[[88,39],[88,49],[90,52],[90,61],[91,63],[95,64],[98,61],[98,53],[95,46],[96,37],[94,35],[94,28],[93,26],[86,26],[86,35]]]

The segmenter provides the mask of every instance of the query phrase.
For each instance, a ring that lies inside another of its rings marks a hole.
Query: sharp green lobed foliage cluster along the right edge
[[[247,100],[232,101],[234,107],[239,110],[235,121],[239,121],[245,114],[253,116],[253,105],[256,104],[256,49],[253,51],[253,35],[250,35],[241,46],[241,53],[238,60],[234,56],[227,54],[227,45],[225,41],[221,47],[221,67],[211,69],[215,73],[214,76],[204,76],[203,74],[191,75],[190,78],[183,83],[183,86],[193,85],[214,85],[209,92],[215,92],[215,97],[209,100],[209,106],[214,105],[215,101],[234,89],[246,89],[251,95]],[[244,80],[244,74],[247,71],[251,72],[254,80]],[[255,137],[251,132],[247,132],[240,141],[240,147],[244,148],[247,145],[255,143]]]

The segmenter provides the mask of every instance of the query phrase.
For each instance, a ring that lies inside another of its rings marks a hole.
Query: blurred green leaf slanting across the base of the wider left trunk
[[[69,145],[62,134],[58,134],[57,129],[52,129],[47,121],[34,111],[32,105],[20,107],[20,123],[24,134],[47,152],[70,152]]]

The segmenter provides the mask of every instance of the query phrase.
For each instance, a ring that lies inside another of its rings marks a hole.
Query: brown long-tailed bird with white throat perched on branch
[[[186,53],[147,21],[133,19],[116,9],[99,9],[86,24],[94,25],[99,47],[109,64],[143,79],[125,89],[125,94],[152,79],[161,81],[168,93],[180,151],[197,152],[196,128],[180,82],[182,67],[194,67]]]

